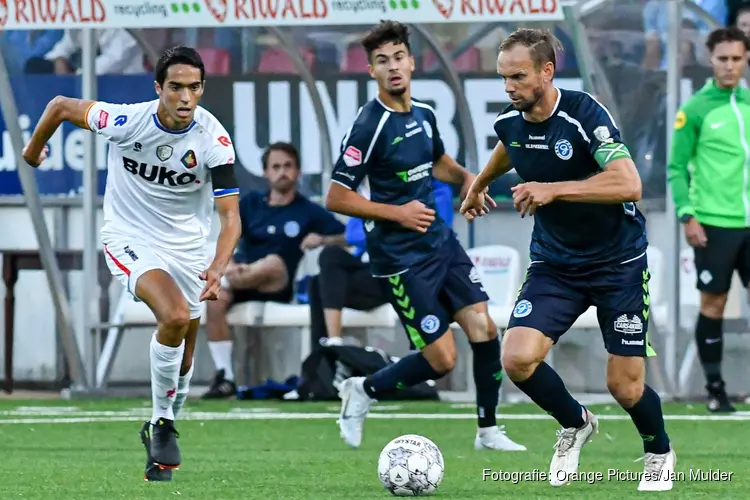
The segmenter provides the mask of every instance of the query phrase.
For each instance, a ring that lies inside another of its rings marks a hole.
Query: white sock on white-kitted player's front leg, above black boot
[[[156,332],[151,337],[151,400],[153,410],[151,423],[155,424],[160,418],[174,420],[173,405],[177,396],[177,383],[180,378],[182,354],[185,351],[185,341],[179,347],[169,347],[156,340]]]

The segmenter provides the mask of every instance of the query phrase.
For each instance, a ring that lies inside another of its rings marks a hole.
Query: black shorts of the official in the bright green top
[[[703,230],[708,244],[705,248],[694,249],[698,290],[727,293],[734,271],[747,286],[750,283],[750,229],[704,225]]]

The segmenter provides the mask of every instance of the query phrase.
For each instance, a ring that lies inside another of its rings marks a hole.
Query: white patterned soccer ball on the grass
[[[397,437],[378,459],[380,482],[397,497],[432,495],[444,470],[443,454],[435,443],[416,434]]]

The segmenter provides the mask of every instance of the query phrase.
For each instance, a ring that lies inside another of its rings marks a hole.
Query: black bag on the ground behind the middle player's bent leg
[[[348,377],[366,377],[394,363],[392,356],[372,347],[321,346],[302,363],[297,393],[300,401],[338,401],[338,390],[333,385]],[[378,401],[438,401],[437,389],[422,382],[398,389]]]

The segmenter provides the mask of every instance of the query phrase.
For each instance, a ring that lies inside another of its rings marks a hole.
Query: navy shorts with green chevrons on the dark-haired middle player
[[[448,331],[453,316],[487,302],[474,264],[455,235],[427,260],[389,278],[378,278],[415,349],[424,349]]]

